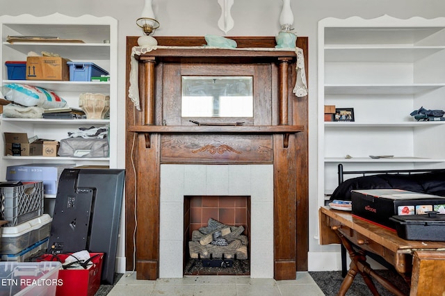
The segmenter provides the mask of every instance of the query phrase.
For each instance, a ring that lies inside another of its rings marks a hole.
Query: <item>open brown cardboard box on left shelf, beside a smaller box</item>
[[[5,155],[41,156],[42,145],[37,141],[30,142],[26,133],[3,133],[5,135]]]

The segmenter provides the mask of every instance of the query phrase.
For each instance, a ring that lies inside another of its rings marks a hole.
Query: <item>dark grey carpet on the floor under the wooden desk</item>
[[[410,294],[410,287],[407,285],[405,280],[399,275],[396,274],[396,272],[393,272],[391,270],[375,270],[378,274],[380,274],[385,279],[388,279],[391,281],[391,283],[394,283],[394,285],[399,288],[403,293],[406,295]],[[326,296],[331,295],[337,295],[339,292],[341,283],[343,282],[343,277],[341,277],[340,271],[330,271],[330,272],[309,272],[311,277],[314,279],[318,287],[321,288],[323,293],[325,293]],[[388,290],[386,290],[378,281],[375,281],[373,279],[373,283],[375,284],[375,287],[377,288],[378,292],[381,296],[391,296],[394,295],[392,293],[389,293]],[[355,277],[352,286],[350,286],[348,292],[346,293],[347,296],[368,296],[372,293],[369,290],[368,286],[366,286],[366,283],[364,283],[364,280],[360,274],[357,274]]]

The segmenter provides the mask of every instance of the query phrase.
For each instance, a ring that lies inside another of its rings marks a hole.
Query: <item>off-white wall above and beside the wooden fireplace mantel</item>
[[[6,2],[8,4],[6,5]],[[90,14],[95,16],[109,15],[119,22],[118,67],[119,76],[119,122],[118,142],[119,155],[124,155],[125,140],[125,41],[127,35],[140,35],[141,31],[135,21],[140,17],[140,10],[144,6],[143,0],[3,0],[0,15],[21,15],[30,13],[37,16],[62,13],[64,15],[79,16]],[[270,36],[275,35],[280,28],[278,19],[282,1],[280,0],[234,0],[232,17],[234,28],[229,36]],[[316,255],[317,252],[335,250],[332,247],[321,247],[318,240],[318,221],[316,215],[316,145],[317,145],[317,22],[325,17],[346,18],[359,16],[373,18],[380,15],[391,15],[402,19],[413,16],[434,18],[443,17],[445,11],[444,0],[291,0],[296,33],[309,37],[309,269],[329,269],[338,265],[337,259],[330,254],[325,258]],[[156,19],[161,27],[156,35],[165,36],[202,36],[206,34],[223,35],[217,25],[220,17],[220,6],[217,0],[153,0]],[[124,167],[124,158],[118,160],[118,167]],[[328,262],[322,265],[318,263]]]

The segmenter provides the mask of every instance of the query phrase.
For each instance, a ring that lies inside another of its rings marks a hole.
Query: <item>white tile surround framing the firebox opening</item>
[[[273,165],[161,165],[161,279],[183,277],[185,195],[250,195],[250,277],[273,278]]]

